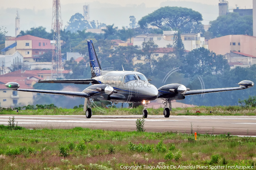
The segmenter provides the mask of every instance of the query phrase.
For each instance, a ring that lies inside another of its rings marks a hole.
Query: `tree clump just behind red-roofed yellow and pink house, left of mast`
[[[47,32],[46,28],[43,26],[39,26],[36,28],[33,27],[33,28],[30,28],[30,30],[26,30],[26,31],[20,31],[20,34],[17,35],[17,37],[20,37],[23,35],[32,35],[35,37],[40,37],[40,38],[49,39],[49,40],[53,39],[53,33]]]

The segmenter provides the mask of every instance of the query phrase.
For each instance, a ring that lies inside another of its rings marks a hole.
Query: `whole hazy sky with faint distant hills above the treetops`
[[[228,0],[228,3],[230,9],[236,4],[242,9],[249,9],[252,8],[252,1]],[[207,25],[218,17],[219,0],[60,0],[60,3],[63,28],[72,15],[77,12],[83,14],[82,6],[85,4],[90,5],[90,20],[121,28],[129,26],[129,16],[135,16],[138,21],[164,6],[192,8],[203,15],[202,24]],[[0,27],[6,27],[9,36],[15,36],[16,10],[20,14],[20,30],[43,26],[50,31],[52,0],[0,0]]]

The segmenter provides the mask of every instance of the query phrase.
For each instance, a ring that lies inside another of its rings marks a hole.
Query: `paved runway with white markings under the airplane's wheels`
[[[136,130],[135,121],[142,115],[92,115],[87,119],[85,115],[0,115],[0,124],[7,125],[9,117],[15,116],[15,123],[29,129],[74,127],[105,129],[117,131]],[[151,132],[182,132],[256,135],[256,116],[170,116],[148,115],[144,129]]]

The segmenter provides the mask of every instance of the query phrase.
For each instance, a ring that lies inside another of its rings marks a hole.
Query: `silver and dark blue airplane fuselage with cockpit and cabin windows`
[[[108,84],[117,91],[110,95],[110,101],[129,103],[151,101],[158,97],[158,89],[150,84],[142,73],[136,71],[102,71],[102,75],[93,79],[100,84]],[[92,89],[88,87],[84,92],[86,90]]]

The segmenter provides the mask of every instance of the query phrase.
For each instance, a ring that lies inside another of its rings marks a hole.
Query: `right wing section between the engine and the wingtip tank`
[[[187,91],[184,96],[186,95],[195,95],[195,94],[204,94],[204,93],[215,93],[215,92],[225,92],[231,90],[242,90],[245,89],[243,87],[232,87],[232,88],[216,88],[216,89],[203,89],[203,90],[190,90]]]

